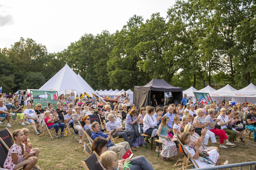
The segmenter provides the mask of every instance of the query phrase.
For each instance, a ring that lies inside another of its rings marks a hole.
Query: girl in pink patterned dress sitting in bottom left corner
[[[15,130],[12,133],[12,138],[15,143],[9,149],[3,168],[7,170],[16,170],[26,165],[23,170],[31,170],[37,163],[37,158],[34,157],[35,152],[33,151],[25,153],[25,145],[22,143],[25,138],[23,131],[21,129]]]

